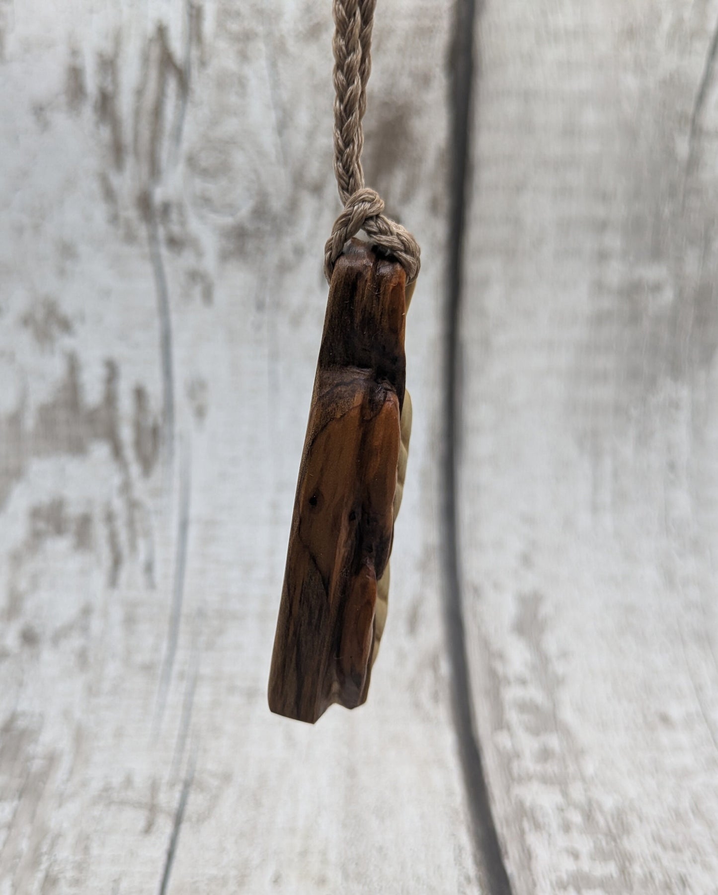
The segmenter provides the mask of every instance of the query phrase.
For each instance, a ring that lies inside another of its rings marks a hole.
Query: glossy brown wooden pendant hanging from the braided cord
[[[357,240],[331,278],[269,673],[269,708],[288,718],[369,689],[411,430],[405,283]]]

